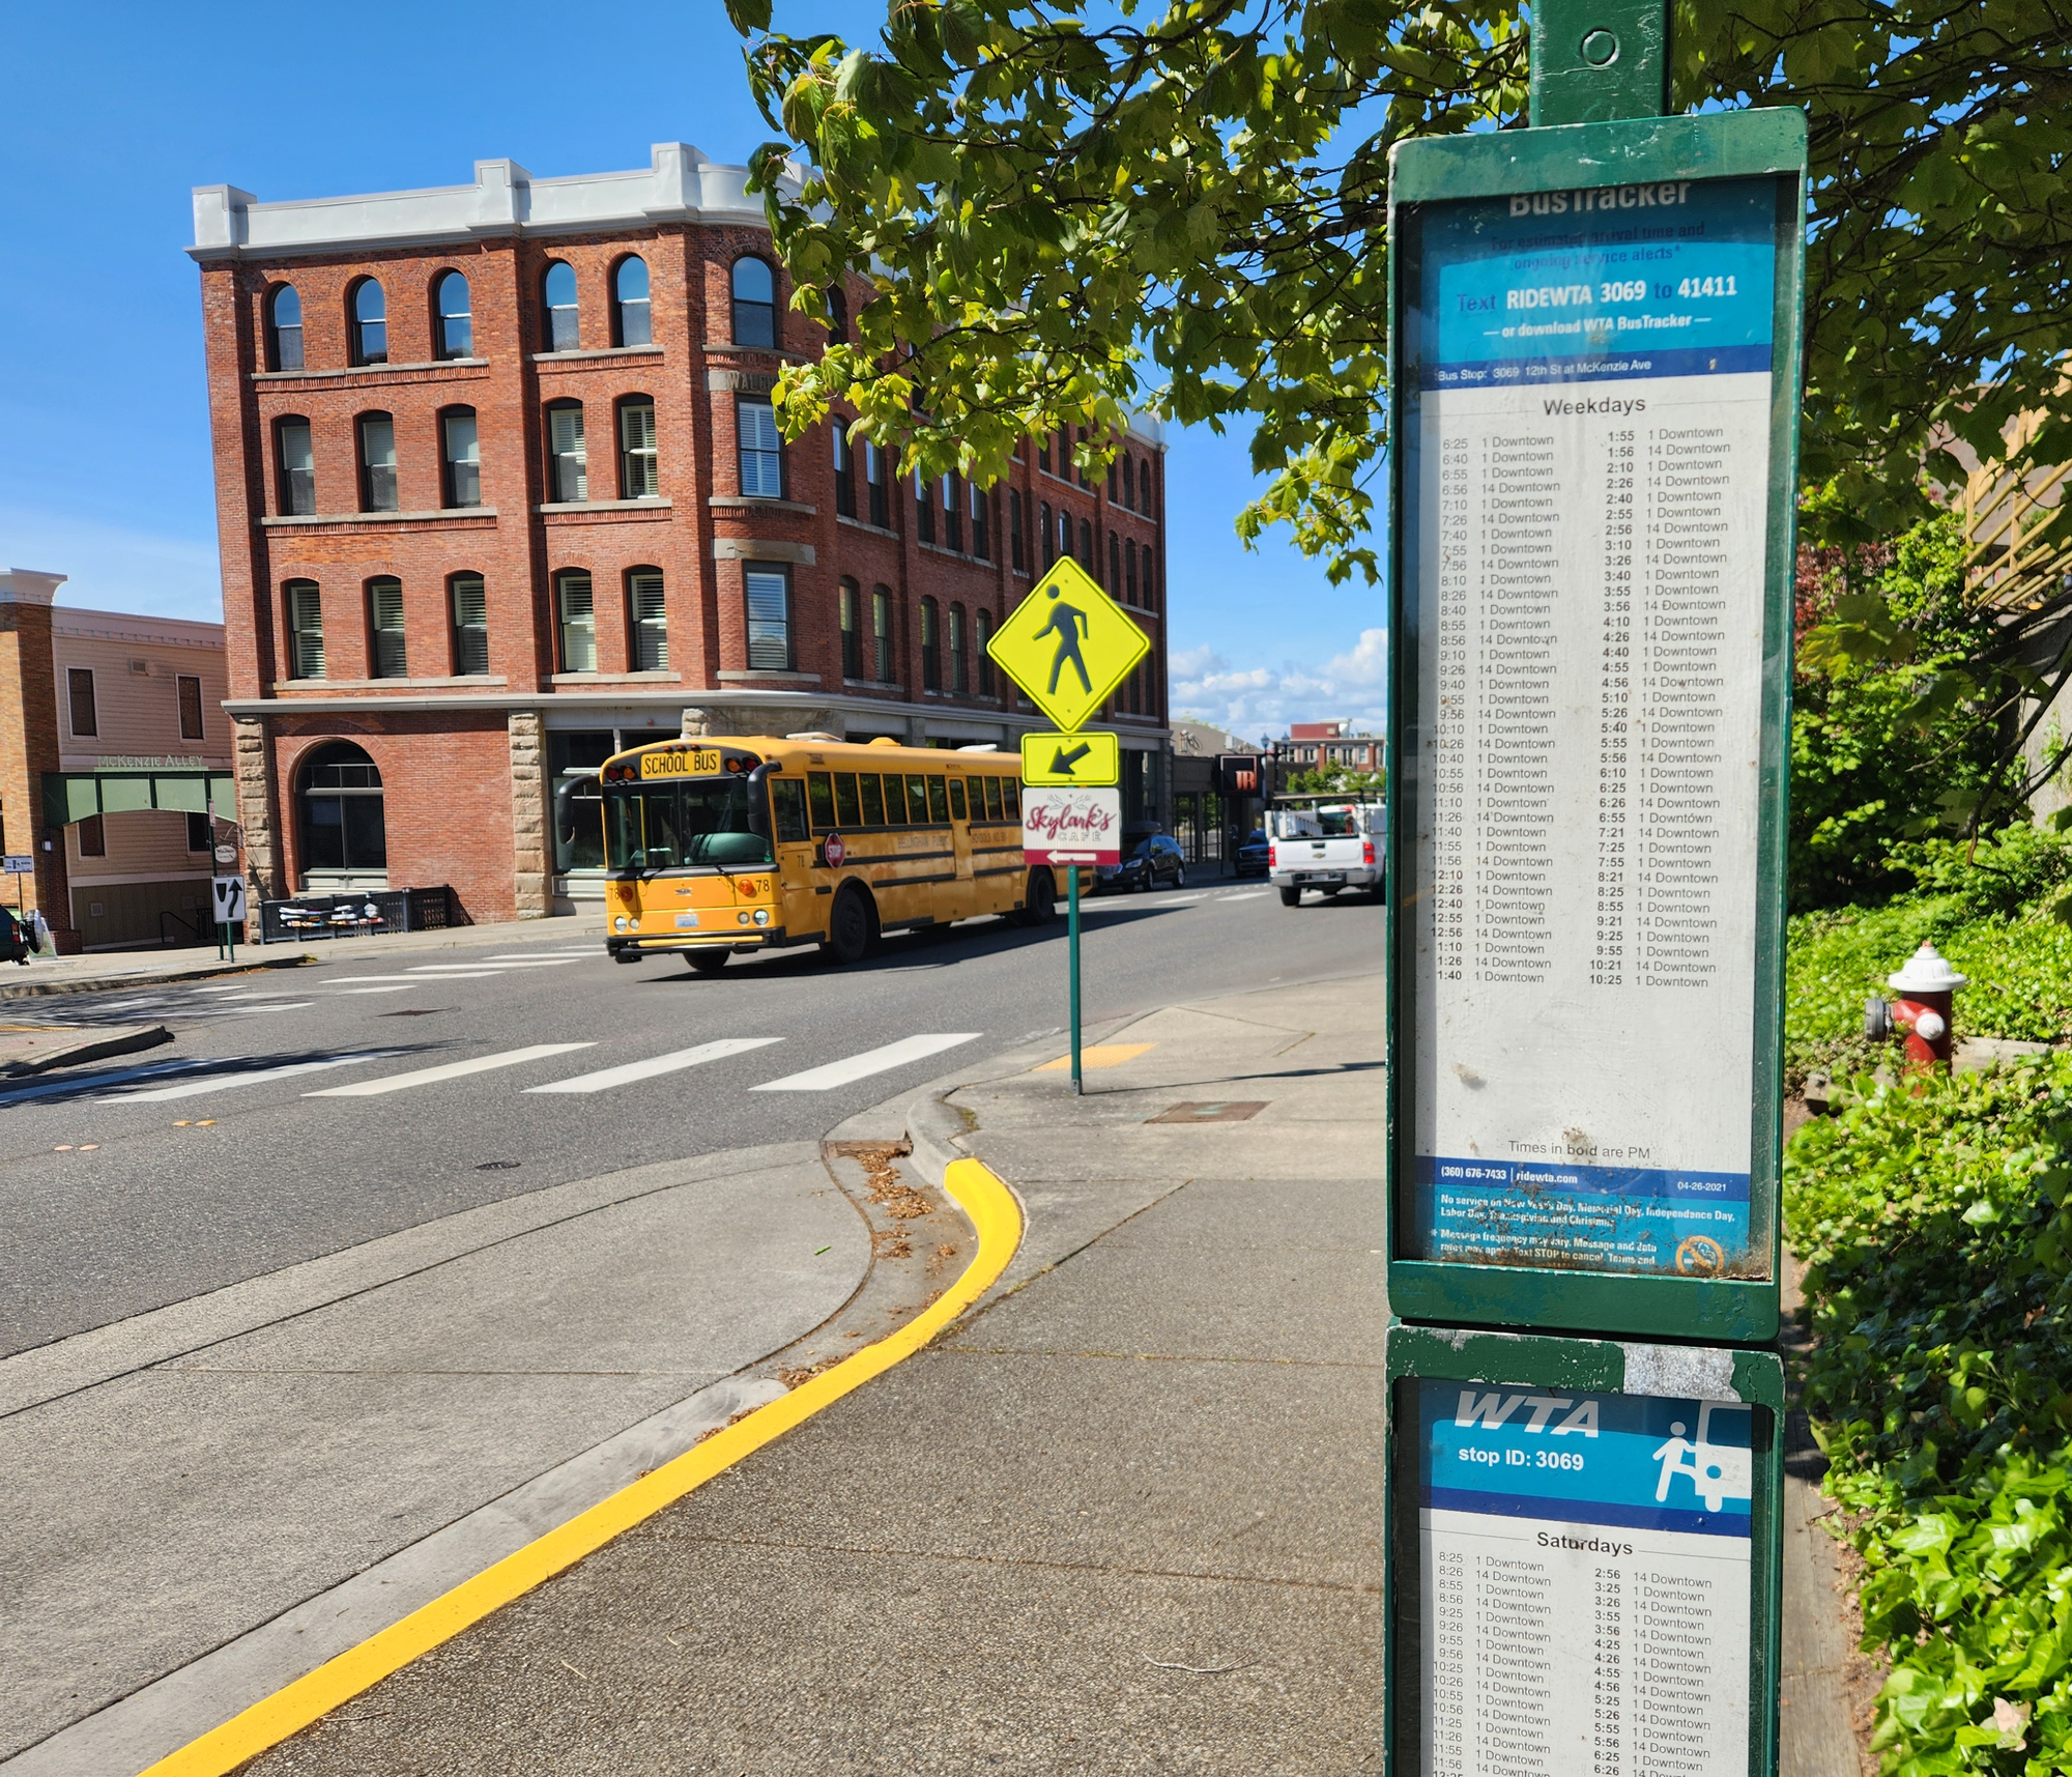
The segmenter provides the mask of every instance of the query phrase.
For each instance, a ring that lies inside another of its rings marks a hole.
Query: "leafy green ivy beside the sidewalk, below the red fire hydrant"
[[[1784,1218],[1892,1663],[1873,1746],[1886,1777],[2045,1777],[2072,1769],[2072,1054],[1859,1091],[1786,1149]]]

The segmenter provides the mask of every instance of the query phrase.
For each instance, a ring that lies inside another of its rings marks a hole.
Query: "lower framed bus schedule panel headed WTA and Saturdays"
[[[1533,1344],[1484,1375],[1390,1365],[1392,1769],[1767,1771],[1776,1359]]]

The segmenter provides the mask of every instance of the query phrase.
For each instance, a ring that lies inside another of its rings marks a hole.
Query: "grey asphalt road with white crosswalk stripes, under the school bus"
[[[1086,1019],[1380,957],[1365,897],[1289,911],[1254,880],[1096,901]],[[481,951],[344,940],[309,969],[64,1011],[164,1019],[176,1042],[0,1089],[0,1357],[549,1185],[816,1139],[1061,1033],[1065,928],[984,920],[856,969],[792,951],[702,978],[613,965],[549,922]],[[487,1067],[406,1081],[464,1062]]]

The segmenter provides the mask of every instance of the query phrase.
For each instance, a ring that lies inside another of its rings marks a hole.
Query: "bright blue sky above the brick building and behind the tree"
[[[640,19],[638,39],[613,21]],[[864,35],[881,0],[777,0]],[[64,603],[222,615],[191,186],[261,199],[742,159],[769,135],[719,0],[646,12],[510,4],[17,8],[0,133],[0,557]],[[1175,435],[1173,708],[1247,735],[1382,715],[1382,599],[1231,530],[1241,437]]]

